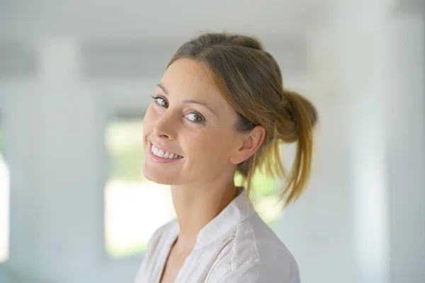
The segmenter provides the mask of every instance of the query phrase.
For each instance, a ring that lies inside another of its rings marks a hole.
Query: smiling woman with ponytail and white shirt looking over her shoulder
[[[300,282],[293,255],[248,196],[259,166],[284,177],[279,145],[297,142],[282,191],[285,204],[297,200],[316,120],[254,38],[207,33],[183,44],[144,120],[145,177],[171,186],[177,217],[152,236],[135,282]],[[234,185],[235,173],[246,188]]]

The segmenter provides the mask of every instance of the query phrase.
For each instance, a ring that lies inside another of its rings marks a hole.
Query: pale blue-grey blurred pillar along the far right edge
[[[391,283],[425,282],[424,42],[424,13],[395,11],[388,19],[382,71]]]

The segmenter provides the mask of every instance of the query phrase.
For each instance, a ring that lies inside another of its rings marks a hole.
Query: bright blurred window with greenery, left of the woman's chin
[[[105,132],[109,178],[105,188],[105,243],[112,258],[145,250],[152,233],[175,217],[169,186],[146,180],[141,117],[118,117]]]

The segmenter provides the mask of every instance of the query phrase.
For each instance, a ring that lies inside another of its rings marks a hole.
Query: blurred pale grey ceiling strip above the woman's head
[[[331,0],[3,0],[0,39],[181,37],[228,30],[272,37],[327,18]]]

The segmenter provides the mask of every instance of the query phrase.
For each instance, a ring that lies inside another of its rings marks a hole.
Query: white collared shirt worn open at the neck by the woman
[[[158,283],[179,235],[174,219],[155,231],[135,283]],[[175,283],[300,283],[297,263],[241,193],[198,233]]]

